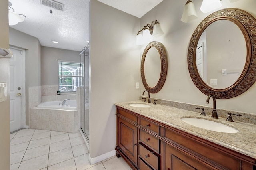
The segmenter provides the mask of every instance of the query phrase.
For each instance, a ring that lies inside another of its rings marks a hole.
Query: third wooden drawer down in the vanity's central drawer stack
[[[159,169],[159,157],[154,152],[142,146],[142,144],[139,144],[139,156],[155,170]]]

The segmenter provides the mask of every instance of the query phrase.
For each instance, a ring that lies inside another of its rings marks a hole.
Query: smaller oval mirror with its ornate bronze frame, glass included
[[[162,89],[167,75],[167,57],[160,42],[150,42],[142,54],[140,73],[142,83],[150,93]]]

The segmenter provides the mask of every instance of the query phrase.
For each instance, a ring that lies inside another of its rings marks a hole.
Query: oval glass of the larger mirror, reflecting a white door
[[[196,67],[208,86],[225,89],[240,77],[246,54],[246,42],[240,28],[232,21],[216,20],[198,40]]]

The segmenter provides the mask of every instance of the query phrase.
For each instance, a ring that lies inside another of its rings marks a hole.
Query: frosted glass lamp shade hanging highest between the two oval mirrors
[[[182,22],[189,22],[197,18],[194,3],[190,0],[184,6],[184,11],[181,17]]]

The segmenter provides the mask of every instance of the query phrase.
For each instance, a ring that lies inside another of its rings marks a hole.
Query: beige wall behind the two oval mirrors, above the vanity
[[[202,0],[195,0],[193,2],[198,18],[189,23],[180,21],[185,2],[178,0],[164,0],[140,18],[141,28],[156,19],[160,22],[165,34],[155,40],[163,43],[168,56],[168,73],[164,87],[160,92],[152,94],[150,97],[212,107],[212,100],[210,104],[205,103],[207,96],[196,88],[188,72],[187,52],[190,38],[198,24],[211,14],[211,12],[204,14],[199,10]],[[255,0],[239,0],[234,3],[231,3],[229,0],[222,0],[221,3],[222,7],[217,10],[240,8],[256,18]],[[145,46],[141,47],[140,51],[143,52],[144,48]],[[140,94],[143,91],[144,87],[140,88]],[[256,114],[255,94],[256,83],[238,97],[216,99],[216,107],[217,109],[221,108]]]

